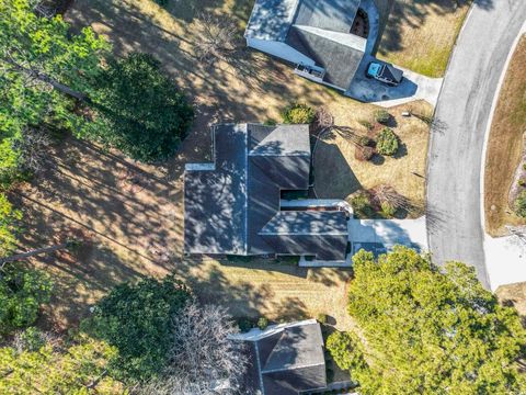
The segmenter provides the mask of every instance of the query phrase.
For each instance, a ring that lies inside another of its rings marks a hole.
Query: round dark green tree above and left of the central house
[[[91,99],[98,111],[91,136],[146,162],[173,154],[193,120],[192,106],[148,54],[110,59]]]

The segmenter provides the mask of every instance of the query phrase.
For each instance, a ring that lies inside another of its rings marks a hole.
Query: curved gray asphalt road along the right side
[[[480,213],[481,161],[491,106],[524,0],[479,0],[453,53],[432,127],[427,235],[435,263],[459,260],[489,289]],[[526,68],[526,66],[525,66]]]

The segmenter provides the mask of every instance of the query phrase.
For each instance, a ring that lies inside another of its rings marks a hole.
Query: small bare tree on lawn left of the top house
[[[236,52],[236,23],[209,12],[197,16],[196,54],[201,61],[229,60]]]

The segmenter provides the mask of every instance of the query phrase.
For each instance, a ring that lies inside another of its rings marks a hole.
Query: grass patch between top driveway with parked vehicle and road
[[[393,0],[377,56],[443,77],[471,0]]]

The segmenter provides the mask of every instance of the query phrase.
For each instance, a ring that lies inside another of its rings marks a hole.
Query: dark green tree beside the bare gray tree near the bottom
[[[171,319],[190,298],[171,276],[145,278],[115,286],[95,306],[88,328],[118,350],[112,372],[127,380],[149,380],[164,369],[171,342]]]

